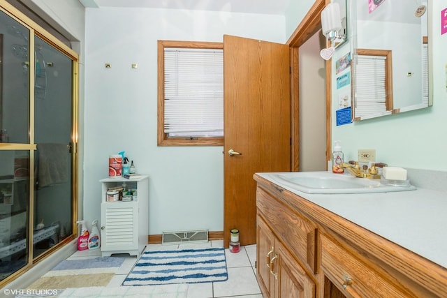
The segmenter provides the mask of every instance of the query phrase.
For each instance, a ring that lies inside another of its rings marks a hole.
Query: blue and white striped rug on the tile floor
[[[123,285],[211,283],[226,281],[224,248],[145,251]]]

